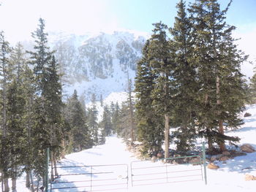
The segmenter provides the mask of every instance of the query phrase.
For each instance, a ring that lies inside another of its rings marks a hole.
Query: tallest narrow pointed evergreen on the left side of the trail
[[[45,33],[45,21],[39,18],[39,25],[36,31],[32,33],[34,38],[34,51],[29,52],[29,64],[34,66],[35,88],[37,97],[33,102],[35,112],[34,126],[31,129],[31,137],[36,141],[34,146],[34,172],[38,177],[45,176],[45,150],[50,147],[50,128],[48,127],[48,115],[46,110],[45,92],[47,86],[47,69],[53,55],[48,47],[48,34]]]

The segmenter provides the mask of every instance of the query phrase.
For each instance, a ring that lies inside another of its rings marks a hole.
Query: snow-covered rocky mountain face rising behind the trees
[[[146,38],[127,31],[83,36],[50,33],[50,47],[64,72],[64,94],[70,96],[76,89],[89,101],[91,93],[99,99],[124,91],[128,75],[135,77]]]

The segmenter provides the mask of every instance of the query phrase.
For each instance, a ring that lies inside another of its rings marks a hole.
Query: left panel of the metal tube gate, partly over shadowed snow
[[[128,188],[128,165],[57,166],[50,191],[115,191]],[[52,172],[55,167],[52,167]]]

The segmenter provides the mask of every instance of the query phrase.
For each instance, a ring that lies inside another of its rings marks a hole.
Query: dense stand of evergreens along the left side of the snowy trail
[[[26,51],[20,43],[10,47],[4,32],[0,33],[0,172],[5,192],[10,191],[9,179],[12,190],[16,189],[16,180],[23,172],[31,191],[38,191],[41,182],[45,185],[48,148],[50,162],[56,165],[67,153],[104,144],[105,137],[113,132],[108,106],[102,121],[97,119],[95,94],[87,109],[77,91],[63,99],[61,66],[55,51],[48,47],[42,18],[32,37],[34,49]],[[57,174],[55,169],[53,175]]]

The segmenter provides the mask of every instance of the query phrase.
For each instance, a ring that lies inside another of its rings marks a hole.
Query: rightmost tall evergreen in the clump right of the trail
[[[244,106],[245,85],[241,79],[240,65],[246,57],[237,50],[235,39],[231,37],[235,27],[225,22],[230,4],[231,1],[226,9],[220,10],[217,0],[197,0],[189,9],[195,48],[193,62],[197,65],[200,82],[201,102],[197,114],[200,127],[208,138],[209,150],[213,150],[213,142],[217,142],[223,151],[225,140],[238,140],[224,135],[223,123],[240,126],[241,120],[236,112]],[[233,95],[231,90],[238,96]]]

